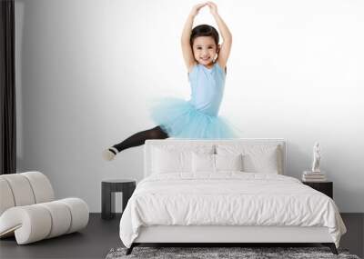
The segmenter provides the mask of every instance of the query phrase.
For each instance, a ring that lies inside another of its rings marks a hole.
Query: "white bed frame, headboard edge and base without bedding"
[[[281,173],[286,174],[286,141],[284,139],[166,139],[147,140],[144,147],[144,173],[151,174],[151,148],[165,144],[277,144],[280,146]],[[327,227],[299,226],[231,226],[231,225],[154,225],[143,226],[134,243],[126,250],[131,254],[140,244],[209,244],[208,246],[241,246],[241,244],[312,244],[329,246],[338,254]]]

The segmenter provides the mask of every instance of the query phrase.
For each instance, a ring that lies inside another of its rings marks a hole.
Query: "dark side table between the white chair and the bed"
[[[123,193],[123,212],[127,201],[136,189],[136,181],[130,179],[103,180],[101,183],[101,218],[115,217],[115,193]]]

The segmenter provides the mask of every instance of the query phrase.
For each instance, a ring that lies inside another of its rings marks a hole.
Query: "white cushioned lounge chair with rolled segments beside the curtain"
[[[0,238],[15,235],[29,244],[76,232],[88,223],[88,206],[79,198],[55,200],[45,174],[0,175]]]

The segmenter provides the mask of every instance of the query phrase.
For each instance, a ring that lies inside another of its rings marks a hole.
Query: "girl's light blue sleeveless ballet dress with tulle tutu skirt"
[[[189,101],[177,97],[154,99],[151,117],[170,137],[238,138],[239,130],[217,116],[224,94],[225,72],[217,62],[212,68],[197,64],[188,75]]]

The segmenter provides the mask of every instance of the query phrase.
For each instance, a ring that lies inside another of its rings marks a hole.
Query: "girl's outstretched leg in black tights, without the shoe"
[[[117,149],[118,152],[122,150],[144,144],[147,139],[165,139],[169,137],[166,132],[164,132],[160,126],[154,127],[149,130],[141,131],[136,134],[133,134],[126,138],[123,142],[119,144],[114,144],[113,146]]]

